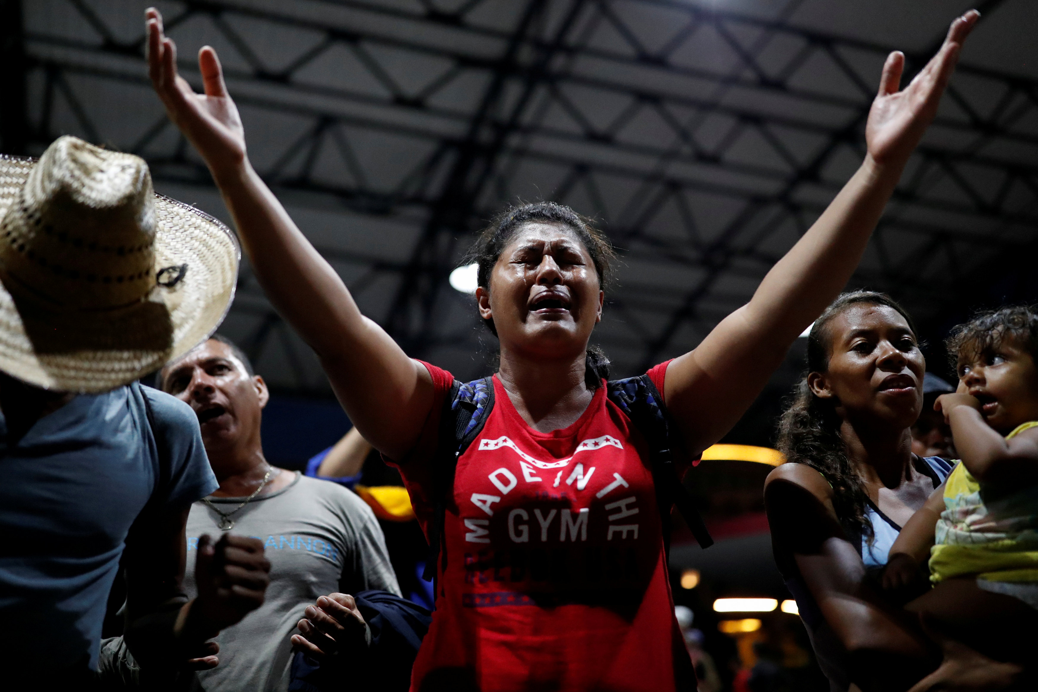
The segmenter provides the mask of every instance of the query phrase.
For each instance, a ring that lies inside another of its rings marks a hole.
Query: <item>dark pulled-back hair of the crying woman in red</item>
[[[609,239],[591,219],[555,202],[516,204],[503,210],[491,220],[480,233],[465,259],[466,262],[475,262],[480,267],[476,285],[489,290],[490,273],[497,264],[501,251],[523,225],[531,222],[557,223],[572,230],[591,255],[595,272],[598,274],[599,285],[603,290],[608,287],[612,278],[612,261],[617,258]],[[493,320],[484,320],[483,324],[497,336]],[[609,378],[609,359],[600,348],[589,347],[584,363],[584,382],[589,389],[597,389],[602,380]]]

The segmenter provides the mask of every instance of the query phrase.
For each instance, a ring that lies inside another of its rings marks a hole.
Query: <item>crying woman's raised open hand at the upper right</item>
[[[865,139],[869,156],[879,164],[904,165],[919,144],[927,126],[937,114],[940,95],[959,59],[962,41],[973,30],[980,12],[971,9],[952,22],[945,44],[926,67],[902,90],[905,56],[895,51],[886,58],[879,79],[879,93],[872,102]]]

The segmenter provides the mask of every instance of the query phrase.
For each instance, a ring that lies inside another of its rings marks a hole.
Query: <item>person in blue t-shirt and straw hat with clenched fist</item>
[[[120,559],[142,662],[216,665],[206,641],[264,598],[255,539],[199,542],[217,488],[191,409],[136,380],[213,332],[239,248],[156,195],[146,164],[74,137],[0,157],[0,663],[5,689],[88,689]],[[126,548],[124,555],[124,548]]]

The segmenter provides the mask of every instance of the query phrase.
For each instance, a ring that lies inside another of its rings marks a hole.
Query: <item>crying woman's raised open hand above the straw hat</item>
[[[215,173],[246,160],[245,130],[238,107],[227,94],[216,51],[198,51],[204,93],[195,93],[176,74],[176,45],[163,33],[162,15],[155,7],[144,13],[147,27],[147,71],[152,85],[166,106],[169,118],[201,154]]]

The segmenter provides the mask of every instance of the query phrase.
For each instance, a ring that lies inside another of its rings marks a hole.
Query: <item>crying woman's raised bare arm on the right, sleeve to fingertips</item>
[[[940,51],[901,91],[904,55],[891,54],[869,112],[862,167],[771,268],[749,303],[668,366],[664,395],[688,451],[705,449],[731,430],[793,340],[850,279],[978,17],[973,10],[956,19]]]

